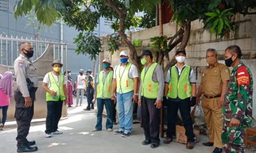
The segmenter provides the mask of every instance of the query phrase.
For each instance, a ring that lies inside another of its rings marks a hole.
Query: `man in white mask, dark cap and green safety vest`
[[[186,59],[185,49],[177,49],[175,54],[177,64],[170,68],[165,78],[165,90],[163,101],[167,105],[168,129],[166,132],[165,144],[172,142],[172,137],[176,135],[175,125],[177,111],[180,110],[184,128],[187,136],[187,149],[194,148],[193,123],[190,116],[191,105],[195,105],[195,73],[193,69],[184,63]],[[166,100],[166,96],[168,100]],[[190,97],[192,99],[190,100]]]

